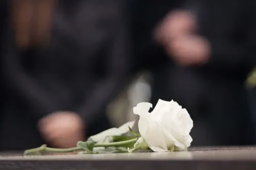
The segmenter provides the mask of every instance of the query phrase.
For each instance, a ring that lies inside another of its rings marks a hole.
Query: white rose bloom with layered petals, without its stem
[[[189,133],[193,128],[187,110],[173,100],[161,99],[148,113],[150,107],[150,103],[139,103],[133,108],[133,113],[140,116],[139,132],[148,146],[156,152],[187,150],[192,142]]]

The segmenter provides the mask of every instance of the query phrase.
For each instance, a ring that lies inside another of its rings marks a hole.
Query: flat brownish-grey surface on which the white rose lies
[[[134,154],[27,156],[3,153],[0,169],[256,169],[256,147]]]

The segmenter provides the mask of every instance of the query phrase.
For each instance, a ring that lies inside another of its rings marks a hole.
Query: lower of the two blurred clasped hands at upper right
[[[206,63],[210,50],[209,41],[201,36],[180,36],[166,46],[167,53],[183,66]]]

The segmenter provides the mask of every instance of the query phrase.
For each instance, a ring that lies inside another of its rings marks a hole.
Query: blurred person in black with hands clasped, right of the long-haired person
[[[158,98],[174,99],[188,109],[194,146],[253,145],[256,133],[244,81],[255,64],[256,6],[240,0],[186,5],[170,7],[150,35],[159,43],[155,49],[164,48],[154,53],[155,61],[170,58],[157,71],[151,69],[157,91],[153,104]]]

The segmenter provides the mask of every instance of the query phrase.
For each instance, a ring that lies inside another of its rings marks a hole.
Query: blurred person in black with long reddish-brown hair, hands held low
[[[8,5],[0,150],[74,147],[111,128],[106,106],[125,84],[130,57],[121,1]]]

